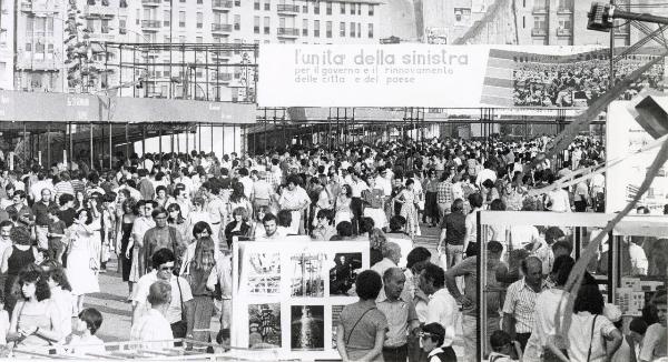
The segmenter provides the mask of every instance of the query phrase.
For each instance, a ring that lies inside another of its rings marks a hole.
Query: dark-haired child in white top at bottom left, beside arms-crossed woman
[[[105,354],[105,342],[95,333],[102,325],[102,314],[95,308],[87,308],[79,313],[72,334],[67,338],[68,350],[73,354]]]

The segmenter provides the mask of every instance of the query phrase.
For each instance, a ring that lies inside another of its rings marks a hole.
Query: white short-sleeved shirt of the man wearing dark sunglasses
[[[155,270],[139,279],[132,292],[132,301],[139,304],[137,308],[150,309],[150,304],[147,300],[148,290],[156,281],[158,281],[158,274]],[[181,296],[183,302],[186,303],[193,299],[193,292],[190,291],[190,284],[180,276],[178,278],[177,283],[176,276],[171,275],[169,284],[171,285],[171,302],[169,303],[166,315],[169,323],[175,323],[181,320]],[[180,295],[178,292],[179,285]]]

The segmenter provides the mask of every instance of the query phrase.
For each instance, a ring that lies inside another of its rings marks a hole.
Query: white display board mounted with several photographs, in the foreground
[[[282,359],[338,359],[335,319],[369,269],[369,242],[246,241],[233,248],[232,346]]]

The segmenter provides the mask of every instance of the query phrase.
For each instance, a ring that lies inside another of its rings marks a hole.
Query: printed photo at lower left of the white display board
[[[281,304],[248,305],[248,348],[281,348]]]

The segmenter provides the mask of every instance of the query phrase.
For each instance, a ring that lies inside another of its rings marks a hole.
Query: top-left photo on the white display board
[[[281,292],[281,254],[252,253],[248,258],[248,293],[278,294]]]

